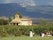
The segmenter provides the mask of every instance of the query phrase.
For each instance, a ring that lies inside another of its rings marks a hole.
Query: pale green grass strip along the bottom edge
[[[34,36],[30,38],[29,36],[9,36],[9,37],[0,37],[0,40],[53,40],[53,37],[40,37],[40,36]]]

